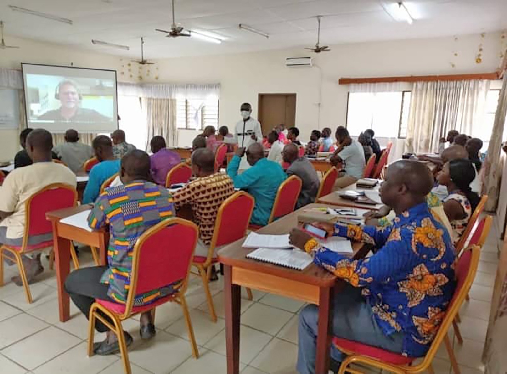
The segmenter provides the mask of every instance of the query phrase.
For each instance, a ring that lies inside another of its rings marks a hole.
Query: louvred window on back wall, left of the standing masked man
[[[176,99],[176,127],[178,129],[202,130],[206,126],[218,129],[219,100],[215,97],[203,99]]]

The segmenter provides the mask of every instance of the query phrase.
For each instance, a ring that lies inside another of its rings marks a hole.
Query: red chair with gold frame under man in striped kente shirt
[[[93,355],[94,327],[95,320],[98,319],[116,333],[123,367],[126,373],[130,373],[130,361],[123,335],[122,321],[138,313],[154,311],[159,305],[175,302],[183,309],[192,354],[195,358],[199,357],[185,299],[190,266],[198,236],[199,229],[194,223],[182,218],[169,218],[150,228],[137,239],[132,255],[132,271],[130,273],[127,302],[118,304],[96,299],[90,309],[88,356]],[[178,281],[181,281],[181,284],[176,287],[175,293],[159,298],[149,305],[134,306],[135,295]],[[109,317],[113,323],[107,321],[103,315]]]

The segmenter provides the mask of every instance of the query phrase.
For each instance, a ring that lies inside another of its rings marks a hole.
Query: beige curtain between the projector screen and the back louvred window
[[[176,99],[141,98],[141,107],[146,114],[148,142],[155,135],[164,137],[168,147],[178,144],[176,130]],[[148,145],[146,145],[148,151]]]

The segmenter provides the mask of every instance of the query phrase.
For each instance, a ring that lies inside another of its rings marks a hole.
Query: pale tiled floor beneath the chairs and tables
[[[470,301],[461,310],[464,343],[453,338],[454,350],[463,374],[483,372],[481,354],[486,336],[492,286],[497,265],[497,233],[492,233],[481,254],[479,272],[470,291]],[[89,252],[82,251],[82,265],[91,265]],[[86,355],[88,323],[71,306],[71,319],[58,321],[56,278],[46,272],[31,286],[34,303],[28,305],[23,290],[12,282],[12,268],[6,268],[6,284],[0,288],[0,372],[6,374],[122,373],[118,356]],[[9,282],[7,283],[7,281]],[[210,322],[199,279],[193,278],[187,300],[201,357],[191,356],[187,330],[178,305],[157,309],[156,338],[139,339],[138,322],[127,320],[124,328],[134,336],[129,357],[134,374],[226,372],[225,312],[222,280],[211,286],[218,322]],[[295,373],[298,340],[298,311],[303,303],[253,291],[254,301],[242,300],[241,369],[243,374]],[[96,334],[96,340],[103,334]],[[438,374],[452,374],[449,357],[441,347],[433,367]],[[370,372],[370,371],[369,371]]]

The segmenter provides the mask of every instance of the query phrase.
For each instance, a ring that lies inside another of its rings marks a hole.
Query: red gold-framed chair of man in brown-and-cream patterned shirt
[[[238,191],[227,198],[219,208],[216,214],[215,228],[211,244],[209,245],[208,255],[194,256],[192,265],[197,268],[198,273],[202,279],[204,291],[208,301],[209,316],[211,321],[216,322],[215,308],[213,305],[213,298],[209,292],[209,275],[211,267],[218,262],[218,257],[215,256],[215,249],[226,244],[235,242],[246,235],[248,223],[253,212],[255,200],[244,191]],[[250,292],[248,296],[250,298]]]

